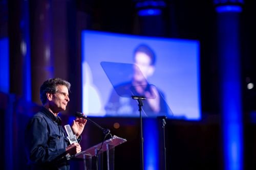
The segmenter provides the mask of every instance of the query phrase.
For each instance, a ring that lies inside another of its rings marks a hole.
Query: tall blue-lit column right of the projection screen
[[[240,13],[242,0],[214,1],[217,11],[224,169],[243,169]]]

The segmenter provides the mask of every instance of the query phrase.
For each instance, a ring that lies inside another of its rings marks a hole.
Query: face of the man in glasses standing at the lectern
[[[51,94],[48,100],[53,111],[60,112],[66,110],[66,106],[69,102],[69,90],[64,85],[58,85],[56,90],[56,93]]]

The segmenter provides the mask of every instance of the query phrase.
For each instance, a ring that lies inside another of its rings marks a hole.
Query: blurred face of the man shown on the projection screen
[[[154,66],[151,65],[151,58],[147,56],[145,53],[138,52],[135,54],[135,64],[139,67],[143,76],[139,74],[135,69],[134,79],[136,81],[143,81],[143,79],[147,79],[152,76],[154,72]]]

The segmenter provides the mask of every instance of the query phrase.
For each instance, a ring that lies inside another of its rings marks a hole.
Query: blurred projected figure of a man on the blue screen
[[[144,95],[147,100],[143,101],[143,110],[146,115],[165,115],[167,106],[162,97],[162,92],[149,85],[147,78],[155,71],[156,55],[151,47],[140,44],[134,51],[134,75],[130,82],[125,82],[115,89],[134,89],[137,95]],[[131,98],[122,98],[115,90],[112,91],[109,102],[105,106],[107,115],[137,116],[138,103]]]

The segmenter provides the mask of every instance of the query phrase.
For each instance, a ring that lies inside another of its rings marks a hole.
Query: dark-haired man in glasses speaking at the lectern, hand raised
[[[69,169],[69,156],[81,152],[79,143],[69,143],[58,113],[66,110],[70,83],[60,78],[49,79],[40,87],[41,110],[25,130],[25,145],[30,169]],[[79,142],[87,120],[76,117],[71,129]]]

